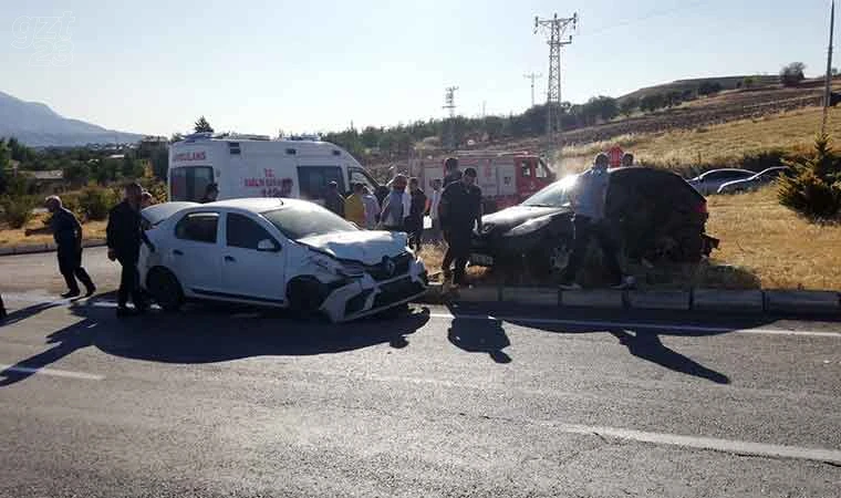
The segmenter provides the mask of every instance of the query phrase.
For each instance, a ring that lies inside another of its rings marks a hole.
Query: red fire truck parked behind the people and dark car
[[[551,184],[554,173],[538,155],[529,152],[459,152],[448,156],[426,156],[409,160],[409,174],[417,177],[429,194],[435,179],[445,176],[444,162],[458,158],[458,167],[476,168],[485,212],[515,206]]]

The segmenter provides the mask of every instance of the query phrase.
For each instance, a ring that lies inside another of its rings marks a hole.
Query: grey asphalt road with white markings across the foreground
[[[0,496],[838,497],[841,324],[56,300],[0,258]]]

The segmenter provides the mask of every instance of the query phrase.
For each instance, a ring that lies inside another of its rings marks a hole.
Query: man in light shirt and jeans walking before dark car
[[[595,156],[593,167],[578,177],[575,188],[572,189],[570,201],[574,212],[574,242],[569,264],[563,272],[561,289],[581,289],[575,282],[581,266],[586,256],[590,239],[598,240],[602,248],[603,261],[613,280],[614,289],[626,289],[633,283],[625,278],[619,264],[619,246],[614,240],[610,222],[605,219],[605,204],[608,188],[610,187],[610,157],[602,153]]]

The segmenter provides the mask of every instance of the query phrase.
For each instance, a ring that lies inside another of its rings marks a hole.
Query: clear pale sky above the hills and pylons
[[[536,14],[581,17],[563,54],[563,100],[661,82],[824,71],[824,0],[2,0],[0,91],[121,131],[277,134],[521,112],[525,73],[548,70]],[[70,44],[34,17],[72,14]],[[28,18],[21,18],[28,17]],[[23,22],[29,19],[30,22]],[[40,34],[41,39],[35,39]],[[40,40],[40,41],[39,41]],[[27,43],[32,42],[32,43]],[[39,44],[40,43],[40,44]],[[33,64],[69,49],[72,62]],[[49,55],[49,56],[48,56]],[[841,56],[841,54],[840,54]],[[838,65],[841,65],[838,64]],[[546,98],[546,77],[538,97]]]

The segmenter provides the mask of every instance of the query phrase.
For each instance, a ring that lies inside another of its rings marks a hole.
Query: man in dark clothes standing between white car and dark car
[[[448,245],[442,269],[444,278],[449,279],[449,267],[455,260],[453,283],[457,286],[464,283],[474,227],[481,230],[481,189],[476,186],[476,169],[465,169],[460,181],[444,189],[438,207],[442,229]]]

